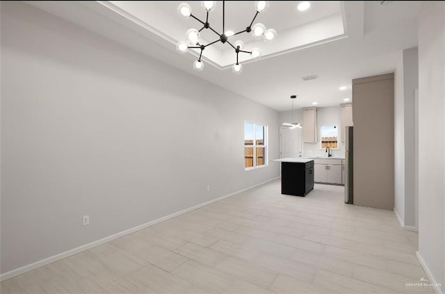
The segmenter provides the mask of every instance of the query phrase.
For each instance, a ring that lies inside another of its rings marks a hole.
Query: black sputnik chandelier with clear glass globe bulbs
[[[216,1],[201,1],[201,6],[207,11],[205,22],[195,17],[195,15],[192,15],[192,9],[190,5],[188,5],[188,3],[181,3],[178,6],[178,14],[180,17],[184,19],[193,17],[202,24],[202,28],[200,28],[199,30],[197,30],[196,28],[190,28],[186,32],[187,42],[179,41],[176,45],[177,51],[179,51],[179,53],[181,54],[186,53],[188,49],[201,49],[200,57],[193,63],[193,68],[197,71],[201,71],[204,69],[204,63],[202,63],[201,60],[202,51],[204,51],[204,49],[206,49],[206,47],[210,46],[211,44],[222,42],[223,44],[229,44],[235,50],[236,63],[232,66],[232,71],[235,74],[241,74],[241,72],[243,71],[243,65],[238,62],[238,54],[240,52],[250,54],[250,57],[256,60],[261,57],[261,51],[258,48],[254,48],[251,51],[245,51],[243,50],[243,41],[237,40],[232,44],[231,42],[229,42],[229,38],[241,33],[252,33],[252,38],[254,38],[255,40],[260,40],[261,38],[263,38],[266,42],[272,42],[277,37],[277,32],[273,28],[266,29],[266,26],[264,26],[264,24],[257,23],[252,26],[254,20],[257,18],[257,15],[259,13],[264,13],[267,10],[267,8],[269,7],[269,1],[255,1],[255,10],[257,10],[257,13],[255,13],[255,16],[253,17],[252,22],[250,22],[249,26],[247,26],[243,31],[238,31],[238,33],[234,33],[233,31],[225,31],[225,1],[223,1],[223,33],[218,33],[213,28],[211,28],[209,24],[209,12],[215,9]],[[216,35],[218,35],[218,40],[213,41],[207,45],[201,44],[200,32],[204,28],[208,28],[213,31],[213,33],[216,33]]]

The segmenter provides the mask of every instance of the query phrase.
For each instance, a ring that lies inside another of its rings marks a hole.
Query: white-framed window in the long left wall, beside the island
[[[251,170],[266,166],[267,126],[244,123],[244,168]]]

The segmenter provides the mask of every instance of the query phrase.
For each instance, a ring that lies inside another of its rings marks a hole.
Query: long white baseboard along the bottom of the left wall
[[[93,247],[97,247],[97,246],[99,246],[99,245],[108,243],[108,242],[110,242],[110,241],[112,241],[112,240],[115,240],[115,239],[117,239],[117,238],[126,236],[126,235],[128,235],[128,234],[132,234],[132,233],[134,233],[135,231],[139,231],[139,230],[141,230],[141,229],[145,229],[145,228],[147,228],[147,227],[151,227],[152,225],[157,224],[157,223],[159,223],[159,222],[163,222],[163,221],[165,221],[165,220],[170,220],[170,218],[175,218],[175,217],[177,217],[177,216],[179,216],[179,215],[181,215],[181,214],[188,213],[189,211],[194,211],[195,209],[200,209],[201,207],[204,207],[204,206],[207,206],[207,205],[212,204],[212,203],[214,203],[214,202],[218,202],[218,201],[223,200],[223,199],[226,199],[226,198],[228,198],[228,197],[232,197],[232,196],[234,196],[234,195],[243,193],[243,192],[245,192],[245,191],[247,191],[247,190],[251,190],[251,189],[253,189],[253,188],[257,188],[258,186],[264,185],[264,184],[269,183],[269,182],[271,182],[271,181],[275,181],[276,179],[279,179],[279,177],[276,177],[276,178],[273,178],[273,179],[269,179],[269,180],[267,180],[267,181],[263,181],[263,182],[261,182],[261,183],[257,183],[257,184],[254,185],[254,186],[250,186],[250,187],[248,187],[248,188],[244,188],[244,189],[238,190],[238,191],[236,191],[236,192],[234,192],[234,193],[230,193],[230,194],[227,194],[227,195],[218,197],[218,198],[216,198],[216,199],[212,199],[212,200],[210,200],[210,201],[208,201],[208,202],[204,202],[204,203],[202,203],[202,204],[198,204],[198,205],[192,206],[192,207],[190,207],[190,208],[188,208],[188,209],[184,209],[184,210],[182,210],[182,211],[178,211],[178,212],[176,212],[176,213],[172,213],[172,214],[170,214],[170,215],[166,215],[166,216],[164,216],[164,217],[162,217],[162,218],[158,218],[158,219],[156,219],[156,220],[152,220],[151,222],[146,222],[145,224],[140,224],[140,225],[138,225],[138,226],[136,226],[136,227],[133,227],[133,228],[131,228],[131,229],[127,229],[127,230],[125,230],[125,231],[120,231],[120,232],[117,233],[117,234],[113,234],[113,235],[111,235],[111,236],[102,238],[102,239],[100,239],[100,240],[95,240],[95,241],[93,241],[93,242],[91,242],[91,243],[88,243],[88,244],[86,244],[86,245],[81,245],[81,246],[76,247],[76,248],[74,248],[74,249],[72,249],[72,250],[68,250],[68,251],[62,252],[62,253],[60,253],[60,254],[56,254],[56,255],[54,255],[54,256],[50,256],[50,257],[48,257],[48,258],[46,258],[46,259],[42,259],[42,260],[40,260],[40,261],[36,261],[35,263],[31,263],[31,264],[29,264],[29,265],[27,265],[27,266],[22,266],[22,268],[17,268],[17,269],[15,269],[15,270],[10,270],[9,272],[5,272],[4,274],[1,274],[1,275],[0,275],[0,281],[5,281],[5,280],[7,280],[7,279],[10,279],[10,278],[13,278],[13,277],[17,277],[18,275],[22,275],[22,274],[24,274],[25,272],[29,272],[29,271],[31,271],[31,270],[35,270],[36,268],[40,268],[40,267],[42,267],[42,266],[46,266],[47,264],[49,264],[49,263],[54,263],[55,261],[59,261],[60,259],[65,259],[65,258],[67,258],[68,256],[72,256],[72,255],[74,255],[74,254],[78,254],[78,253],[80,253],[80,252],[89,250],[89,249],[91,249],[91,248],[93,248]]]

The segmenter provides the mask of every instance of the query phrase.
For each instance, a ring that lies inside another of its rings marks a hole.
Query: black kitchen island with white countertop
[[[281,193],[285,195],[306,196],[314,189],[314,159],[280,158]]]

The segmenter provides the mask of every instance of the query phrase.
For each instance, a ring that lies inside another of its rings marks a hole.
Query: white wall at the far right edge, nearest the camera
[[[419,15],[419,254],[445,293],[445,2]]]

